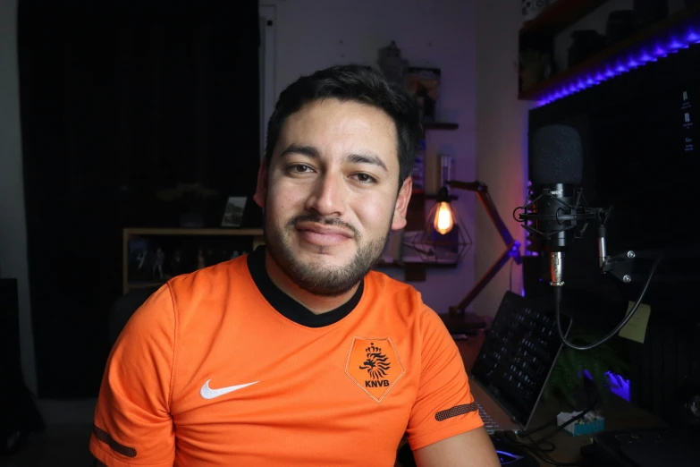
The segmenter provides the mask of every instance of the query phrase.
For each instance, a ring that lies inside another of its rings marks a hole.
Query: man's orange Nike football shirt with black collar
[[[311,319],[264,257],[175,277],[131,317],[100,389],[97,459],[390,467],[404,433],[415,450],[483,425],[457,346],[415,289],[373,271],[344,309]]]

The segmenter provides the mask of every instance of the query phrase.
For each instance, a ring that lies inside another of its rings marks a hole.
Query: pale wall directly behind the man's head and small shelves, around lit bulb
[[[276,6],[275,89],[333,64],[376,65],[378,50],[395,40],[410,64],[442,70],[441,120],[454,132],[430,132],[428,150],[456,159],[456,179],[475,179],[476,96],[473,0],[261,0]],[[517,6],[517,5],[516,5]],[[459,214],[475,234],[473,193],[460,192]],[[429,208],[429,206],[427,207]],[[411,283],[434,310],[446,313],[474,284],[474,250],[456,269],[428,269]],[[403,279],[401,270],[386,269]]]

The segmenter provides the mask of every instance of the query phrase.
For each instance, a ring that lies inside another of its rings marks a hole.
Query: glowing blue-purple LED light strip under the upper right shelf
[[[656,62],[660,58],[698,43],[700,43],[700,13],[679,21],[679,24],[659,32],[653,38],[628,47],[618,55],[611,56],[603,64],[582,70],[556,87],[544,90],[537,96],[536,106],[546,106],[555,100],[592,88],[620,74]]]

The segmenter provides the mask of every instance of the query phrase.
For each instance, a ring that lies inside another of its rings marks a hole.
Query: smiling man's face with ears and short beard
[[[287,118],[254,199],[267,250],[300,287],[350,291],[406,225],[411,183],[399,190],[397,148],[396,125],[373,106],[328,98]]]

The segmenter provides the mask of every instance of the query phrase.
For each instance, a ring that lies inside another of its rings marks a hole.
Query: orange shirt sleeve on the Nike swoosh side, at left
[[[168,284],[119,335],[102,378],[90,452],[109,467],[172,467],[170,398],[177,321]]]

